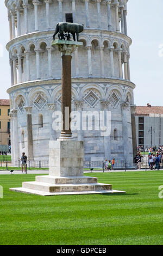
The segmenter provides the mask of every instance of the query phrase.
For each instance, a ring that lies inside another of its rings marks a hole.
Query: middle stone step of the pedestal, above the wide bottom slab
[[[50,184],[44,182],[30,181],[23,182],[23,188],[29,188],[30,190],[39,190],[45,192],[78,192],[78,191],[104,191],[111,190],[112,185],[102,183],[90,183],[90,184]]]

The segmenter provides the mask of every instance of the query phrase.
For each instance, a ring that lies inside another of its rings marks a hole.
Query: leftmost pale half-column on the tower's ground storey
[[[18,148],[18,128],[17,128],[17,109],[12,109],[11,113],[13,114],[13,142],[14,142],[14,159],[19,160],[19,148]],[[13,149],[12,149],[13,150]]]

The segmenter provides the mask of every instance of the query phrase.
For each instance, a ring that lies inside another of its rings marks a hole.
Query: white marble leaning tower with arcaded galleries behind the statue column
[[[61,109],[61,56],[51,47],[58,22],[84,24],[83,47],[73,53],[72,109],[111,111],[111,134],[74,131],[85,160],[130,160],[135,147],[135,84],[130,81],[128,0],[5,0],[10,41],[12,159],[48,159],[59,137],[52,113]],[[134,136],[133,136],[134,135]],[[134,137],[134,138],[133,138]]]

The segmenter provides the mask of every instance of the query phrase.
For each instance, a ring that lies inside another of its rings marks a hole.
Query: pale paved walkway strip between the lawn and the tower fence
[[[150,170],[147,170],[148,172]],[[104,173],[119,173],[119,172],[125,172],[125,170],[105,170]],[[145,172],[145,169],[141,169],[141,170],[126,170],[126,172]],[[84,170],[84,173],[103,173],[102,170]],[[0,170],[0,175],[1,174],[10,174],[10,170]],[[12,173],[12,175],[14,174],[21,174],[22,172],[21,170],[14,170],[14,172]],[[48,170],[27,170],[27,174],[48,174]]]

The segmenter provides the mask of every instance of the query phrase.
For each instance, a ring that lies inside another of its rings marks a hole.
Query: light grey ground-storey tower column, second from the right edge
[[[128,102],[121,102],[124,160],[129,159],[128,122],[127,122],[128,108],[129,108]]]

